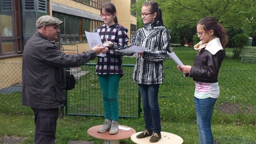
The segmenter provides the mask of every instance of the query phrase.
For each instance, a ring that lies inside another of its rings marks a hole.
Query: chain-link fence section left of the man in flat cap
[[[0,112],[32,113],[21,105],[22,64],[0,63]]]

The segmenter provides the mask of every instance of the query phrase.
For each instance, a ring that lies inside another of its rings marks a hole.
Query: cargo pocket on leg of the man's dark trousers
[[[40,114],[40,130],[46,135],[53,135],[56,131],[56,115],[55,114]]]

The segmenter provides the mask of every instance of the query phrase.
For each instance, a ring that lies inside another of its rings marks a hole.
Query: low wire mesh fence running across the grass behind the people
[[[101,89],[95,64],[80,66],[74,75],[78,84],[67,91],[67,115],[103,116]],[[141,100],[138,87],[132,80],[133,65],[123,66],[125,75],[119,84],[120,117],[140,117]],[[73,72],[73,69],[71,69]],[[215,104],[213,116],[256,114],[256,70],[221,69],[218,76],[221,95]],[[0,63],[0,112],[31,113],[21,106],[21,64]],[[161,117],[195,118],[195,82],[184,78],[173,66],[165,64],[165,82],[160,85],[159,104]]]

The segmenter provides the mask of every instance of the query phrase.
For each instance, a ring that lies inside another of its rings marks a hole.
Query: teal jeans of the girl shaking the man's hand
[[[121,75],[98,75],[102,90],[105,119],[119,121],[118,86]]]

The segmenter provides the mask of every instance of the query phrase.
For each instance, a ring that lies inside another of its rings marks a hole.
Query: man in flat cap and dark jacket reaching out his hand
[[[35,144],[55,142],[58,108],[65,104],[65,68],[87,63],[104,49],[98,45],[78,55],[65,54],[52,42],[58,39],[61,23],[50,15],[39,17],[37,32],[23,51],[22,104],[35,113]]]

